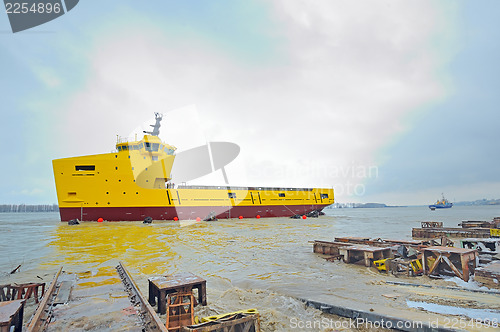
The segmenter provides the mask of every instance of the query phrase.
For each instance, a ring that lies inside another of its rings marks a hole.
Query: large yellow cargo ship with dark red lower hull
[[[117,138],[114,152],[52,161],[61,221],[291,217],[334,203],[332,188],[175,185],[176,148],[155,119],[142,139]]]

